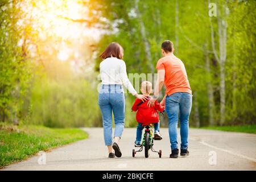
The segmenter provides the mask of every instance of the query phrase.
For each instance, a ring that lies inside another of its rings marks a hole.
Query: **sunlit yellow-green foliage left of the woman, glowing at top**
[[[56,19],[43,22],[41,12],[33,14],[40,6],[49,7],[42,9],[47,14],[53,5],[47,1],[0,3],[1,122],[100,126],[96,74],[90,68],[93,40],[84,33],[76,39],[55,35],[54,28],[65,31],[55,26]],[[67,60],[61,61],[58,56],[65,52]]]

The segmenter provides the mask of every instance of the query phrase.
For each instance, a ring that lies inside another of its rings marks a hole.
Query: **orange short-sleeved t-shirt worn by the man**
[[[185,66],[175,55],[159,59],[156,64],[156,69],[164,69],[166,71],[164,76],[166,95],[170,96],[176,92],[187,92],[192,94]]]

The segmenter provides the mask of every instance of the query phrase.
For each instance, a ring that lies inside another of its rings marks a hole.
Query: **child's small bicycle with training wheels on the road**
[[[160,139],[153,137],[152,130],[150,129],[150,127],[152,127],[152,123],[150,123],[150,124],[149,123],[143,123],[142,126],[144,126],[146,128],[145,133],[143,135],[142,145],[141,145],[141,148],[139,148],[138,151],[135,151],[133,149],[133,157],[135,157],[135,154],[137,152],[141,152],[143,150],[143,146],[144,146],[145,158],[148,158],[148,155],[149,155],[148,151],[150,150],[150,148],[151,148],[152,152],[158,152],[158,151],[154,150],[153,145],[154,145],[154,139],[155,140],[160,140]],[[162,150],[159,150],[158,155],[159,155],[159,158],[162,157]]]

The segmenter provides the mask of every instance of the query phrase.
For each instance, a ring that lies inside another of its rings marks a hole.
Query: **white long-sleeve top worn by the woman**
[[[117,57],[108,57],[100,63],[101,84],[123,84],[133,94],[137,93],[127,77],[125,61]]]

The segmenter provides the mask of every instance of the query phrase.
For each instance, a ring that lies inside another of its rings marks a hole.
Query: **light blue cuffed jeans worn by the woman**
[[[125,125],[125,94],[122,85],[101,85],[98,96],[102,123],[104,129],[105,145],[112,145],[112,111],[114,114],[114,137],[122,137]]]

